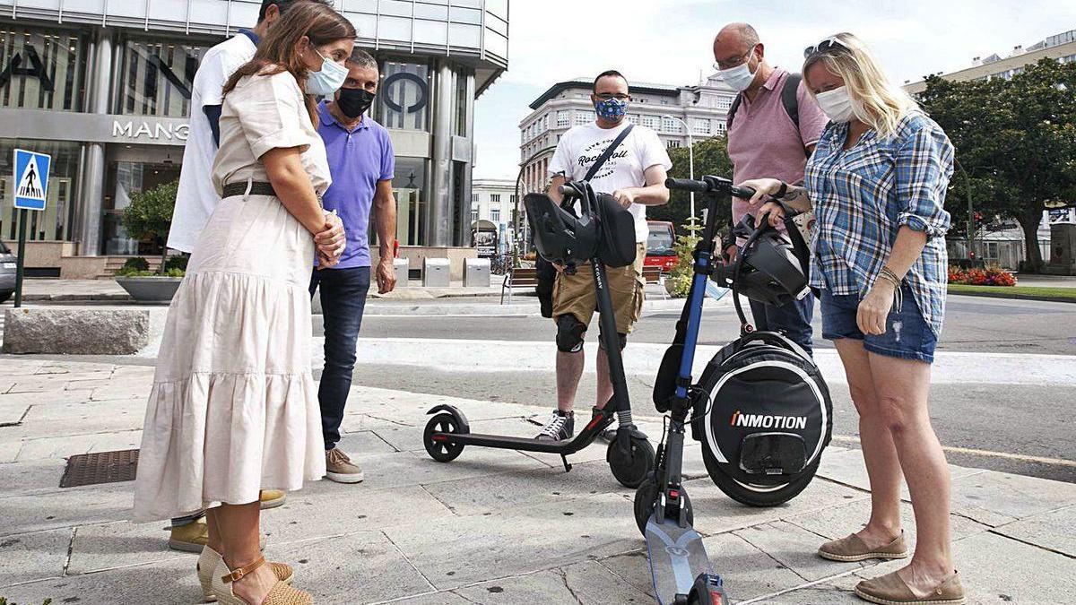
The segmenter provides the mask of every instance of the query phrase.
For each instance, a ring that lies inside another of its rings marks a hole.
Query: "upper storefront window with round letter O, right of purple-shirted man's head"
[[[429,67],[387,60],[381,66],[378,121],[385,128],[429,131]]]

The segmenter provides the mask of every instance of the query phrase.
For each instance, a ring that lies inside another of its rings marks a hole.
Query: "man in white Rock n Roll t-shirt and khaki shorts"
[[[597,118],[576,126],[561,137],[549,165],[551,198],[560,201],[558,187],[567,181],[582,180],[606,147],[627,127],[625,112],[629,100],[627,80],[619,71],[603,72],[594,80],[591,102]],[[642,310],[642,262],[650,235],[647,207],[668,202],[665,177],[671,167],[672,163],[657,135],[643,126],[635,126],[590,180],[595,192],[611,194],[635,216],[635,263],[626,267],[606,267],[621,348]],[[583,374],[583,337],[594,314],[596,298],[589,264],[578,267],[574,275],[563,270],[557,275],[553,286],[557,409],[538,434],[539,438],[570,439],[575,433],[571,408]],[[597,382],[595,405],[600,408],[612,397],[609,363],[600,352],[597,356]]]

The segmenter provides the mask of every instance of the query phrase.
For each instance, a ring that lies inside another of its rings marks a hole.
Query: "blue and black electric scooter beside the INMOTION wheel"
[[[651,579],[657,602],[665,604],[691,603],[698,605],[725,605],[728,603],[721,576],[713,572],[703,536],[692,527],[694,513],[691,500],[682,484],[684,426],[693,407],[691,370],[703,316],[703,298],[706,282],[713,270],[713,236],[717,222],[717,202],[720,194],[750,198],[754,191],[736,187],[732,181],[718,177],[704,177],[702,181],[668,179],[670,189],[709,194],[709,210],[703,229],[703,239],[695,247],[694,276],[685,304],[686,325],[684,339],[677,335],[679,347],[666,353],[662,366],[678,363],[676,384],[671,395],[659,399],[655,386],[654,405],[667,413],[667,431],[657,447],[655,470],[635,492],[635,521],[647,540]],[[678,333],[681,326],[678,326]],[[661,379],[661,374],[659,379]]]

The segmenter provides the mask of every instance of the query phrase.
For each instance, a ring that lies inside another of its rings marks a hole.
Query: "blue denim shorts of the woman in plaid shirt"
[[[872,353],[933,363],[938,339],[923,320],[916,298],[907,284],[903,286],[901,309],[890,310],[886,318],[886,334],[875,336],[860,332],[855,313],[860,307],[859,294],[830,294],[822,291],[822,338],[854,338]]]

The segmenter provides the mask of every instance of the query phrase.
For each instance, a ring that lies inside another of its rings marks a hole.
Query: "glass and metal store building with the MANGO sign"
[[[17,233],[12,149],[53,156],[27,264],[145,254],[134,193],[179,177],[203,53],[260,0],[0,0],[0,237]],[[337,0],[381,66],[374,119],[396,150],[401,245],[470,240],[475,99],[508,67],[508,0]],[[371,229],[372,231],[372,229]]]

